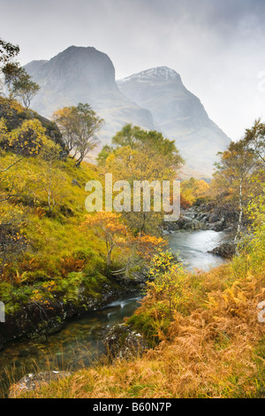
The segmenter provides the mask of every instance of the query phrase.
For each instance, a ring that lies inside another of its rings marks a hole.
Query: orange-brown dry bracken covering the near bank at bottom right
[[[188,316],[176,313],[155,350],[79,371],[27,397],[254,397],[254,348],[265,335],[256,309],[264,300],[264,275],[231,281],[229,270],[223,266],[201,274],[200,306]]]

